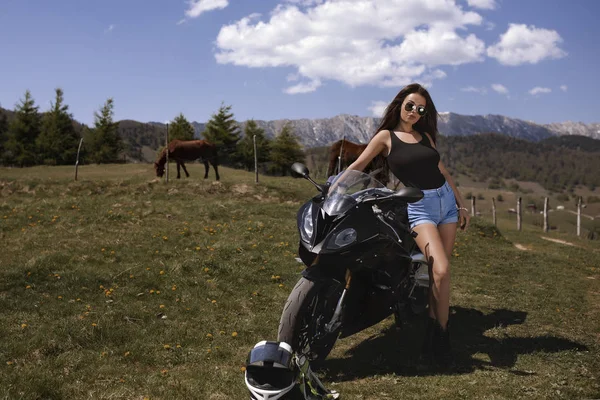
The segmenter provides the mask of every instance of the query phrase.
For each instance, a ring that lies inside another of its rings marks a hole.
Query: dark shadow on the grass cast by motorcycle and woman
[[[559,337],[505,336],[501,331],[502,327],[525,322],[527,313],[523,311],[499,309],[483,314],[475,309],[452,307],[451,313],[451,342],[455,363],[448,370],[427,366],[419,360],[424,323],[416,320],[399,331],[392,326],[371,336],[348,350],[347,357],[325,360],[321,372],[326,379],[338,382],[388,373],[404,376],[466,374],[490,367],[511,369],[521,354],[587,350],[582,344]],[[496,338],[484,335],[494,328],[499,329],[494,335]],[[474,357],[476,354],[477,357]],[[517,375],[532,374],[512,369],[511,372]]]

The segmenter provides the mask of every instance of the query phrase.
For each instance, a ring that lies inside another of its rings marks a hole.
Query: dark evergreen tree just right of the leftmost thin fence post
[[[113,99],[106,100],[99,112],[94,113],[94,127],[85,139],[89,160],[98,164],[116,162],[123,150],[123,141],[118,134],[118,123],[113,122]]]

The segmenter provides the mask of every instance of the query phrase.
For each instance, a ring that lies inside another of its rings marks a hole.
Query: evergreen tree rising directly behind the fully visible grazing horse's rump
[[[219,158],[223,164],[231,165],[235,161],[236,144],[240,140],[240,128],[233,118],[231,106],[221,104],[217,114],[213,114],[206,124],[202,136],[219,149]]]

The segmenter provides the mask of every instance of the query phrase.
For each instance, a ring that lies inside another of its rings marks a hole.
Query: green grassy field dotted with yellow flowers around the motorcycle
[[[72,167],[0,169],[0,398],[248,398],[245,357],[276,338],[313,188],[188,169],[168,185],[145,164],[84,166],[78,182]],[[600,242],[498,226],[475,219],[456,241],[454,370],[419,365],[422,328],[390,318],[336,345],[326,385],[363,400],[599,398]]]

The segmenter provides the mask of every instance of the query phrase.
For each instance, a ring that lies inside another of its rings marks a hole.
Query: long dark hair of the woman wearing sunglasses
[[[416,124],[413,125],[413,129],[419,132],[420,134],[424,134],[425,132],[431,135],[431,139],[434,143],[437,141],[437,110],[435,108],[435,104],[433,104],[433,100],[429,95],[427,89],[418,83],[411,83],[408,86],[405,86],[400,90],[400,92],[394,97],[394,100],[387,106],[385,112],[383,113],[383,118],[381,119],[381,123],[379,127],[375,131],[375,135],[383,130],[392,131],[395,129],[400,123],[400,112],[402,103],[406,96],[411,93],[418,93],[423,96],[426,100],[425,110],[427,110],[427,114],[425,116],[419,118]],[[373,136],[375,136],[373,135]]]

